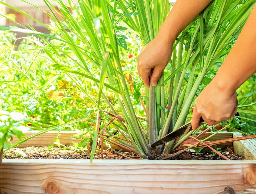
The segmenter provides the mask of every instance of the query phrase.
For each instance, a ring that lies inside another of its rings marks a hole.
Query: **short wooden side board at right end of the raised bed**
[[[233,137],[239,136],[241,133],[233,133]],[[256,160],[256,141],[254,139],[233,142],[233,148],[235,154],[241,155],[245,160]]]

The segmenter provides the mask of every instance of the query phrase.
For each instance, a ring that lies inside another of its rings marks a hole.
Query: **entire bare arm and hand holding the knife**
[[[251,11],[234,47],[211,83],[195,100],[192,128],[200,117],[209,125],[228,120],[236,112],[235,90],[256,72],[256,8]]]

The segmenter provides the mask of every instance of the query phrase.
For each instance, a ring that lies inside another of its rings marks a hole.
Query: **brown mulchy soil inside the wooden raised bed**
[[[18,154],[16,154],[15,149],[8,150],[5,152],[3,158],[17,158],[17,159],[25,159]],[[53,158],[65,158],[65,159],[89,159],[88,151],[82,149],[66,149],[66,148],[58,148],[53,147],[48,150],[47,146],[44,147],[26,147],[20,148],[23,152],[28,155],[30,159],[38,159],[38,158],[46,158],[46,159],[53,159]],[[118,153],[120,152],[120,154]],[[225,155],[228,159],[231,160],[243,160],[243,158],[239,155],[235,155],[231,149],[222,150],[221,153]],[[103,154],[103,159],[126,159],[125,156],[128,156],[133,159],[139,159],[138,155],[135,155],[132,152],[122,152],[122,150],[113,150],[111,152],[105,152]],[[100,159],[100,153],[97,151],[95,153],[95,158]],[[179,156],[175,158],[175,160],[225,160],[221,156],[217,155],[216,153],[196,153],[193,151],[186,151],[181,153]]]

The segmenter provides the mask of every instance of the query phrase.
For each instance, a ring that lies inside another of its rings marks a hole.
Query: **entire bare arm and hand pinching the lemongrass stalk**
[[[149,87],[149,73],[153,68],[151,83],[153,86],[157,85],[160,75],[170,61],[174,40],[211,1],[193,0],[191,3],[188,0],[177,0],[156,38],[138,55],[138,74],[145,86]]]

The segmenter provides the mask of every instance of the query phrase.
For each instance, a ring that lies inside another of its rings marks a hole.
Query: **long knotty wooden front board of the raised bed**
[[[256,188],[256,161],[3,159],[0,193],[220,193]]]

